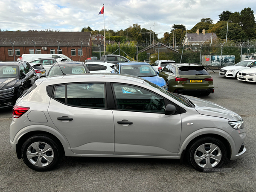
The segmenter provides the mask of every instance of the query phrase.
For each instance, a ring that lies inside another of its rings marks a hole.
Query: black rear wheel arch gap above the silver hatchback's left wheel
[[[61,141],[58,139],[58,137],[56,137],[55,135],[47,132],[47,131],[30,131],[26,134],[24,134],[22,137],[20,137],[20,139],[18,140],[18,143],[16,144],[16,153],[17,153],[17,157],[18,159],[21,159],[21,148],[23,143],[29,138],[32,137],[34,135],[44,135],[47,137],[50,137],[52,140],[54,140],[60,147],[61,147],[61,151],[63,154],[65,154],[65,150],[64,147],[61,143]]]

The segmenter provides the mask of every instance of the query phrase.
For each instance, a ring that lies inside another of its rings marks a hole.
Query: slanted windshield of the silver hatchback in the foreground
[[[192,102],[189,99],[186,99],[185,97],[177,94],[177,93],[171,93],[168,90],[151,83],[150,81],[144,80],[143,84],[147,84],[149,87],[153,87],[154,89],[160,90],[162,93],[165,93],[166,95],[172,97],[173,99],[177,100],[178,102],[182,103],[183,105],[186,105],[187,107],[193,107]]]

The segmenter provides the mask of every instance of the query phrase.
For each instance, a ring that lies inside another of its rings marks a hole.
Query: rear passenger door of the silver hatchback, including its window
[[[113,113],[106,106],[105,83],[56,85],[49,104],[52,122],[76,154],[113,154]]]

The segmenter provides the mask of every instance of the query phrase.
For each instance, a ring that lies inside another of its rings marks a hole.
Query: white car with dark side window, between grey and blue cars
[[[87,62],[86,67],[90,73],[111,73],[114,63],[103,62]]]

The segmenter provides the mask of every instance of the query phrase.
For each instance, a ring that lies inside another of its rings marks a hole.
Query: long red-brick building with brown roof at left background
[[[92,56],[91,32],[0,32],[0,61],[34,53],[58,53],[84,61]]]

